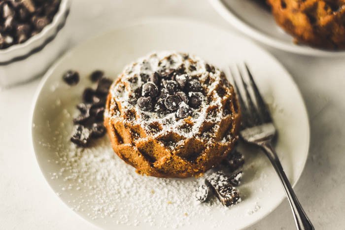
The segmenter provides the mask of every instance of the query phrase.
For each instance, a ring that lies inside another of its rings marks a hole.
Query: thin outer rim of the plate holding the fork
[[[72,210],[71,207],[69,206],[69,204],[67,202],[65,202],[65,200],[63,200],[62,198],[60,198],[57,194],[56,191],[53,189],[53,187],[50,185],[49,183],[49,178],[48,176],[45,175],[45,173],[43,172],[43,169],[41,167],[41,164],[39,164],[39,160],[38,160],[38,155],[36,154],[35,151],[35,143],[34,143],[34,118],[35,118],[35,112],[37,111],[36,106],[37,106],[37,101],[38,101],[38,97],[44,87],[44,85],[46,84],[47,80],[49,79],[49,77],[52,75],[52,73],[55,71],[55,69],[57,68],[57,66],[59,66],[66,57],[68,57],[69,55],[71,55],[79,46],[84,45],[85,43],[88,43],[90,40],[94,40],[98,37],[102,37],[105,36],[108,33],[114,33],[115,31],[120,31],[126,28],[130,28],[130,27],[136,27],[136,26],[144,26],[147,24],[152,24],[152,23],[186,23],[186,24],[195,24],[195,25],[199,25],[199,26],[204,26],[204,27],[212,27],[212,29],[217,30],[217,31],[221,31],[224,33],[229,33],[232,36],[239,36],[241,37],[242,35],[239,34],[234,34],[229,30],[226,30],[222,27],[220,27],[219,25],[216,25],[214,23],[209,23],[209,22],[205,22],[205,21],[198,21],[197,19],[191,19],[188,17],[172,17],[172,16],[157,16],[157,17],[145,17],[143,19],[136,19],[134,21],[130,21],[128,23],[125,23],[123,25],[111,28],[105,32],[102,33],[98,33],[95,36],[92,36],[82,42],[79,42],[78,44],[76,44],[75,46],[73,46],[72,48],[70,48],[64,55],[62,55],[59,59],[57,59],[55,61],[55,63],[49,67],[49,69],[46,71],[46,73],[43,75],[42,79],[40,80],[39,84],[37,85],[33,100],[32,100],[32,105],[31,105],[31,111],[30,111],[30,124],[29,124],[29,129],[30,129],[30,138],[31,138],[31,146],[32,146],[32,152],[35,154],[35,159],[36,159],[36,164],[39,167],[39,170],[41,171],[46,184],[50,187],[51,191],[56,195],[56,198],[59,198],[60,201],[62,201],[66,207],[69,208],[69,210]],[[301,113],[301,116],[304,118],[304,120],[306,121],[305,125],[306,125],[306,140],[307,143],[305,144],[306,149],[303,152],[306,152],[306,154],[304,155],[304,159],[303,159],[303,165],[301,165],[301,168],[299,170],[299,175],[296,177],[295,182],[292,184],[292,188],[294,188],[296,186],[296,184],[298,183],[300,177],[303,174],[303,171],[305,169],[306,163],[307,163],[307,159],[309,156],[309,150],[310,150],[310,138],[311,138],[311,128],[310,128],[310,119],[309,119],[309,115],[308,115],[308,110],[306,107],[306,103],[304,98],[302,97],[301,91],[298,88],[298,85],[296,84],[296,82],[294,81],[293,77],[291,76],[291,74],[289,73],[289,71],[278,61],[278,59],[276,59],[275,56],[273,56],[270,52],[268,52],[267,50],[265,50],[264,48],[262,48],[261,46],[259,46],[258,44],[256,44],[255,42],[251,41],[248,38],[243,37],[245,40],[247,40],[247,42],[252,43],[254,46],[256,46],[257,49],[261,50],[262,52],[264,52],[268,57],[270,57],[273,61],[276,62],[276,65],[279,66],[279,68],[282,69],[282,71],[284,71],[286,73],[286,75],[290,78],[291,83],[293,84],[293,86],[296,89],[296,93],[298,94],[299,98],[301,99],[301,103],[303,105],[303,113]],[[244,226],[243,229],[245,228],[249,228],[251,226],[253,226],[254,224],[258,223],[259,221],[261,221],[262,219],[264,219],[265,217],[267,217],[270,213],[272,213],[273,211],[276,210],[276,208],[282,203],[282,201],[286,198],[286,196],[282,196],[280,197],[279,201],[276,202],[275,205],[273,205],[272,209],[270,209],[270,211],[264,213],[262,216],[260,216],[259,218],[257,218],[256,220],[254,220],[252,223],[250,223],[247,226]],[[99,226],[97,226],[95,223],[90,222],[88,219],[86,219],[84,216],[80,215],[79,213],[77,213],[76,211],[72,210],[73,213],[78,216],[79,218],[81,218],[83,221],[85,221],[86,223],[91,224],[92,226],[96,227],[96,228],[100,228]]]

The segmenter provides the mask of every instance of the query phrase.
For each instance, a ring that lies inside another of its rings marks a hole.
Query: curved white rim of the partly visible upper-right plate
[[[281,41],[278,38],[271,37],[243,22],[240,18],[232,12],[231,8],[227,6],[224,0],[208,0],[216,12],[223,17],[234,28],[241,31],[255,41],[259,41],[270,47],[282,50],[288,53],[315,56],[315,57],[345,57],[345,51],[328,51],[313,48],[311,46],[298,46]],[[291,38],[293,38],[291,36]]]

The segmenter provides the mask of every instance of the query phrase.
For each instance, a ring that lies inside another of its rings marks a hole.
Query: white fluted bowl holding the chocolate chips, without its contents
[[[61,0],[53,21],[22,44],[0,50],[0,88],[28,81],[43,73],[65,50],[64,25],[70,0]]]

